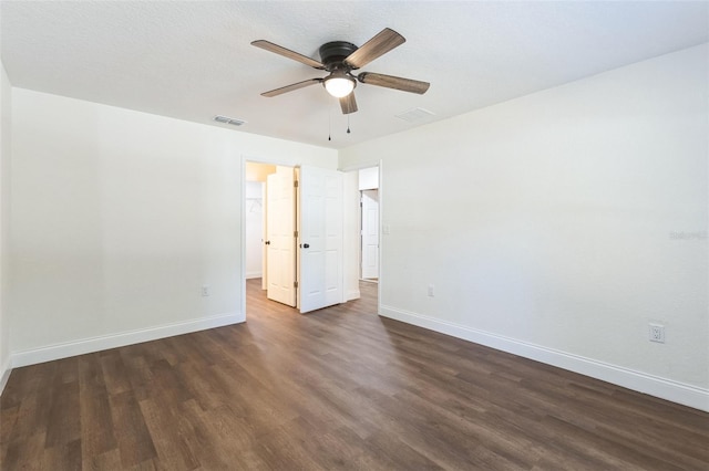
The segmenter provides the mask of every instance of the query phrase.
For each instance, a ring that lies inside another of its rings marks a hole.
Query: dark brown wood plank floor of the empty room
[[[12,371],[2,470],[708,470],[709,414],[379,317],[300,315]]]

